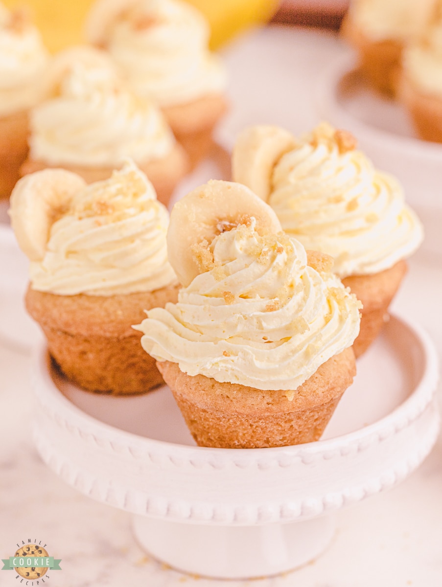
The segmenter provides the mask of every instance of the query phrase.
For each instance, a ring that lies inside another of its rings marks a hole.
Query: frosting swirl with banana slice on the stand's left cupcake
[[[33,289],[111,296],[176,281],[167,258],[169,213],[130,161],[87,186],[59,169],[26,176],[14,190],[10,214],[31,259]]]

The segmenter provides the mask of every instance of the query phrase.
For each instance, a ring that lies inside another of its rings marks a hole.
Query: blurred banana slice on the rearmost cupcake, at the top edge
[[[85,36],[92,45],[105,46],[113,23],[139,0],[96,0],[86,18]]]

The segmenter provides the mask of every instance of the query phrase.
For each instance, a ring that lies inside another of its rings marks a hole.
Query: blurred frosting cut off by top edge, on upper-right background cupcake
[[[435,0],[353,0],[350,18],[373,42],[417,38],[431,16]]]

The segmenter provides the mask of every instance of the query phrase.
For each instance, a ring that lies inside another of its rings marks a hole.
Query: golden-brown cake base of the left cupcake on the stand
[[[126,395],[163,383],[132,329],[144,310],[176,302],[178,286],[113,296],[26,292],[26,309],[41,326],[49,353],[61,371],[85,390]]]

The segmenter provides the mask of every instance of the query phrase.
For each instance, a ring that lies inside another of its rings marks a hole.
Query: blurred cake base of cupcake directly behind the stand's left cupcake
[[[138,168],[146,174],[149,181],[155,188],[158,201],[167,206],[176,184],[189,171],[189,157],[183,147],[176,143],[170,153],[163,158],[153,159],[145,163],[138,163]],[[21,177],[35,171],[41,171],[48,167],[62,167],[68,171],[78,174],[91,184],[95,181],[106,180],[112,176],[115,166],[109,167],[86,167],[67,163],[50,164],[46,161],[36,160],[29,156],[20,168]]]

